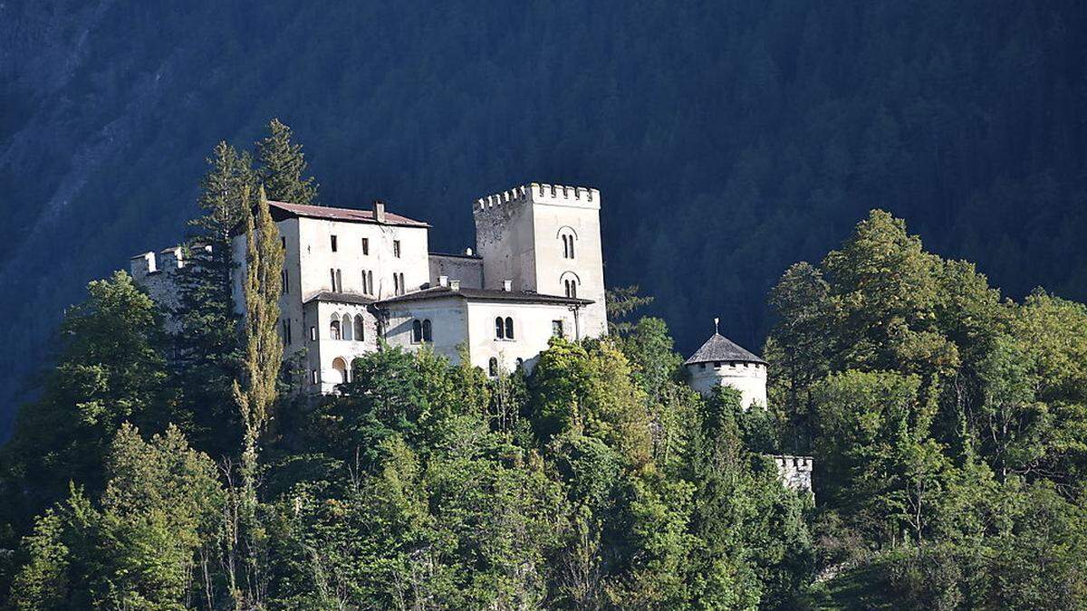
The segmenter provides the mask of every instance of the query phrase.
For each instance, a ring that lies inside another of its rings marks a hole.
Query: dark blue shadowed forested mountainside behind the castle
[[[687,351],[880,207],[1008,294],[1087,298],[1082,2],[7,2],[3,413],[62,308],[177,241],[202,160],[271,117],[326,203],[383,198],[471,246],[468,202],[604,194],[607,275]],[[685,273],[675,273],[679,262]],[[33,388],[33,386],[32,386]],[[4,427],[0,426],[0,429]]]

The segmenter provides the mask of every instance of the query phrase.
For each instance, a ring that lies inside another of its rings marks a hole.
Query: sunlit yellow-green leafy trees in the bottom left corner
[[[15,577],[16,609],[184,609],[197,595],[198,552],[217,536],[215,465],[171,427],[143,441],[122,427],[99,502],[73,487],[37,520]]]

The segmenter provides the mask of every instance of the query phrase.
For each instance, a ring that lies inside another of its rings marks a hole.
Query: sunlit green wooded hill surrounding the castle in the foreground
[[[873,210],[771,291],[767,406],[694,392],[632,289],[611,334],[552,338],[532,372],[379,346],[300,396],[267,197],[321,194],[270,130],[253,158],[216,147],[189,230],[220,247],[179,311],[125,272],[67,311],[0,448],[0,604],[1087,604],[1087,306],[1007,299]],[[241,316],[216,257],[238,217]],[[814,457],[814,498],[783,452]]]

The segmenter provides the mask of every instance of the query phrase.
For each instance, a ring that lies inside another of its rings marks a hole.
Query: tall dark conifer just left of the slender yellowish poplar
[[[238,376],[241,345],[230,290],[230,242],[232,230],[252,207],[257,174],[248,152],[239,154],[222,141],[208,164],[211,169],[201,180],[198,199],[203,215],[189,222],[188,263],[177,275],[177,350],[172,364],[175,385],[191,414],[193,442],[218,457],[238,441],[232,382]]]

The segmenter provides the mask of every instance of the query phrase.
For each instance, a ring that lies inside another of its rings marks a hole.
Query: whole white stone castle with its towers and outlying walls
[[[608,333],[600,191],[529,183],[473,204],[476,248],[430,252],[430,225],[392,213],[270,201],[284,248],[279,333],[298,353],[303,390],[335,392],[351,361],[389,346],[427,346],[466,358],[489,376],[535,366],[552,336]],[[235,303],[245,295],[246,235],[233,242]],[[171,248],[132,258],[132,275],[176,306]],[[715,321],[716,324],[716,321]],[[766,362],[716,333],[685,363],[691,386],[740,390],[745,409],[766,406]],[[775,457],[783,479],[810,489],[811,460]],[[805,471],[807,470],[807,471]],[[807,485],[798,483],[807,482]]]

